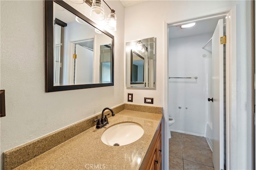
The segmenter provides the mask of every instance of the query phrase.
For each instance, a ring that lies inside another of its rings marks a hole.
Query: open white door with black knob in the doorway
[[[212,36],[212,98],[213,98],[213,149],[212,162],[215,170],[224,169],[224,96],[223,96],[223,19],[218,21]]]

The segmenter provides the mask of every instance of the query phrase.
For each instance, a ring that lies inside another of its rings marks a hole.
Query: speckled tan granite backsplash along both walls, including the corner
[[[112,108],[114,113],[117,114],[124,109],[134,110],[134,111],[143,111],[150,113],[161,113],[162,107],[156,106],[143,106],[143,105],[134,105],[134,104],[121,104],[119,106]],[[110,111],[105,111],[105,114],[110,113]],[[86,131],[90,127],[96,125],[94,120],[97,117],[100,117],[101,113],[60,129],[56,132],[50,133],[49,135],[43,136],[39,139],[16,147],[14,149],[8,150],[3,153],[3,169],[11,170],[20,166],[21,164],[35,158],[36,156],[50,150],[57,145],[60,145],[64,141],[71,139],[72,137]]]

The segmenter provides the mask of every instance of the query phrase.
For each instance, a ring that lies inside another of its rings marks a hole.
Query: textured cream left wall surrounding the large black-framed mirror
[[[112,32],[114,86],[46,93],[45,3],[0,1],[0,87],[6,93],[6,117],[0,119],[1,159],[6,150],[124,102],[124,65],[120,64],[124,63],[124,6],[119,1],[107,2],[118,18],[117,31]],[[89,6],[80,9],[90,18]]]

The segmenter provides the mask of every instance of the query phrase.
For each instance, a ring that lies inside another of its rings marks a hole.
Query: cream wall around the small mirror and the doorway
[[[236,6],[234,6],[236,5]],[[187,20],[208,14],[214,14],[236,8],[236,70],[232,75],[238,82],[233,97],[237,106],[232,115],[232,169],[252,169],[252,2],[251,1],[171,1],[150,0],[125,8],[125,41],[156,37],[156,90],[124,90],[133,93],[133,103],[143,104],[144,96],[153,97],[154,105],[164,106],[168,113],[168,42],[167,23]],[[237,77],[236,77],[237,76]],[[124,80],[125,81],[125,80]],[[125,84],[125,82],[124,82]],[[235,84],[234,84],[235,85]],[[237,95],[236,95],[237,93]],[[233,113],[233,112],[232,112]],[[236,120],[237,121],[236,123]],[[166,127],[168,119],[165,119]],[[236,128],[238,131],[236,131]],[[165,131],[165,150],[168,150],[167,132]],[[242,147],[238,147],[242,146]],[[164,153],[164,167],[168,167],[168,153]]]

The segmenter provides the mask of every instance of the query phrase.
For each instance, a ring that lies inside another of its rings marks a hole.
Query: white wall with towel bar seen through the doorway
[[[169,29],[171,30],[171,29]],[[171,33],[171,31],[169,31]],[[212,54],[202,47],[210,34],[169,39],[169,76],[198,77],[197,79],[171,78],[169,84],[169,115],[175,119],[171,131],[204,136],[205,126],[205,66]],[[181,109],[179,109],[181,107]]]

